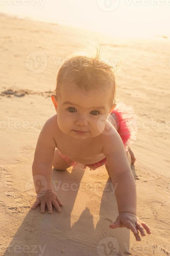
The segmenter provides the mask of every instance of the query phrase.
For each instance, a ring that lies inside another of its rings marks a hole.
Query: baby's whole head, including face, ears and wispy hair
[[[115,108],[116,85],[112,66],[95,57],[72,56],[61,66],[51,94],[60,130],[75,139],[99,136]],[[79,134],[76,131],[85,131]]]

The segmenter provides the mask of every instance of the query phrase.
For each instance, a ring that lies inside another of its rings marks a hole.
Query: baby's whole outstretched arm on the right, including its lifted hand
[[[114,127],[113,127],[114,128]],[[114,128],[115,129],[115,128]],[[150,230],[145,223],[141,223],[136,216],[136,185],[131,171],[125,148],[119,133],[115,130],[113,135],[106,136],[103,154],[108,162],[109,174],[115,189],[119,216],[110,228],[127,227],[132,230],[136,240]]]

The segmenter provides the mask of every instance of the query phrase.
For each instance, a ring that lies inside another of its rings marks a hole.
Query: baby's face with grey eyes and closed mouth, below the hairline
[[[52,94],[51,98],[54,96]],[[63,133],[79,140],[100,135],[111,109],[110,96],[110,90],[107,89],[86,92],[74,85],[67,89],[62,86],[58,102],[56,97],[55,101],[52,99],[57,112],[58,127]]]

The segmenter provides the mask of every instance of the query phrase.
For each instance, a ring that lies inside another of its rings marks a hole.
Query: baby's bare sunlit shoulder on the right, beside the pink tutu
[[[107,129],[102,133],[102,140],[103,140],[103,154],[105,156],[115,153],[115,152],[121,152],[124,148],[123,141],[115,129],[115,127],[108,122]]]

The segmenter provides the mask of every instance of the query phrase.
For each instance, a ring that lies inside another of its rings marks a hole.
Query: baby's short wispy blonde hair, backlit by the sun
[[[77,85],[78,88],[87,91],[110,90],[110,106],[115,103],[116,82],[115,71],[119,66],[113,67],[105,60],[101,59],[101,48],[95,45],[96,55],[90,56],[90,52],[81,51],[80,54],[74,52],[64,61],[60,67],[57,78],[55,95],[58,100],[61,97],[61,86]],[[80,53],[80,52],[79,52]]]

